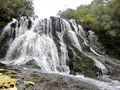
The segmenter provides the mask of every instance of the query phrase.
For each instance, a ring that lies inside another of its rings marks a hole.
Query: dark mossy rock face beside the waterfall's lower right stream
[[[87,77],[96,77],[100,73],[94,61],[81,53],[77,48],[73,47],[71,49],[68,47],[68,55],[70,59],[68,66],[70,67],[71,74],[79,73]]]

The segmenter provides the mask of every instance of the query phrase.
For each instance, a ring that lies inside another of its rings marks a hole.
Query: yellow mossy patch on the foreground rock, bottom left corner
[[[20,77],[13,78],[13,72],[16,72],[16,74],[14,73],[16,76],[16,70],[0,68],[0,90],[18,90],[20,88],[19,85],[25,86],[26,88],[35,85],[34,82],[21,80]]]

